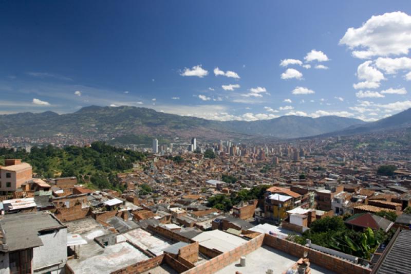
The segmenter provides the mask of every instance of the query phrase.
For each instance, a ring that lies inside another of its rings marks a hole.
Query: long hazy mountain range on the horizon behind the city
[[[87,106],[62,115],[50,111],[0,115],[0,135],[46,137],[61,133],[100,140],[124,135],[165,138],[196,136],[207,140],[255,137],[285,139],[325,134],[365,124],[359,119],[338,116],[282,116],[250,122],[214,121],[156,112],[145,107]]]

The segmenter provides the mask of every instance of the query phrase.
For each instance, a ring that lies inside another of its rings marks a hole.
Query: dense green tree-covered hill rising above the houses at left
[[[30,163],[38,177],[77,176],[80,182],[90,180],[99,189],[122,190],[122,186],[117,184],[116,173],[132,169],[133,163],[144,160],[145,155],[97,141],[85,148],[70,146],[61,149],[52,145],[33,147],[30,153],[1,148],[0,165],[4,165],[4,159],[7,158],[19,158]]]

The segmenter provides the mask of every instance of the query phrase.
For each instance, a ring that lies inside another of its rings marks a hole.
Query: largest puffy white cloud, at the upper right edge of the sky
[[[408,54],[411,16],[401,11],[371,16],[361,27],[347,29],[340,44],[347,45],[352,55],[361,59]]]

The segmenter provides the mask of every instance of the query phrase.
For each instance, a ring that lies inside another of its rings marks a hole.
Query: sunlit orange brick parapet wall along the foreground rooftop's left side
[[[257,248],[261,247],[263,244],[264,234],[257,236],[256,238],[248,241],[246,244],[236,247],[235,249],[225,252],[218,255],[217,257],[207,261],[203,264],[200,264],[190,270],[184,272],[184,274],[211,274],[214,273],[240,259],[241,256],[244,256]]]

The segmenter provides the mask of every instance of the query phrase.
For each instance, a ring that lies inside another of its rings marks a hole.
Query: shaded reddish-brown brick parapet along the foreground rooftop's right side
[[[263,244],[286,252],[287,254],[293,255],[297,258],[304,257],[304,252],[306,251],[308,253],[308,259],[310,259],[311,263],[320,265],[328,270],[340,274],[368,274],[371,272],[371,269],[369,268],[352,264],[332,255],[316,251],[314,249],[284,239],[279,239],[269,234],[265,234]]]

